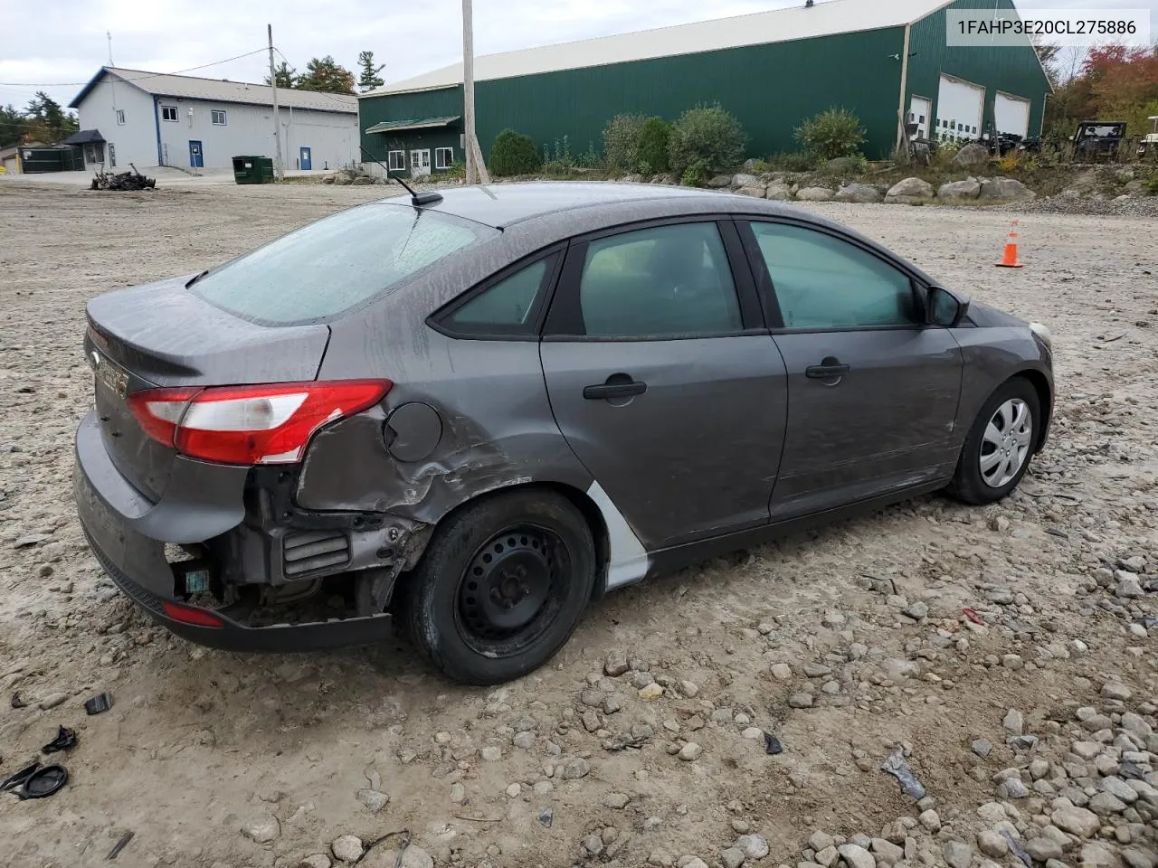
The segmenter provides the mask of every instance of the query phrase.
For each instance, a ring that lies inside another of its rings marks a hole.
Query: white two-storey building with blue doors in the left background
[[[82,131],[97,133],[85,147],[88,165],[229,169],[235,156],[274,155],[265,84],[105,66],[69,108]],[[278,88],[278,115],[287,169],[358,162],[357,97]]]

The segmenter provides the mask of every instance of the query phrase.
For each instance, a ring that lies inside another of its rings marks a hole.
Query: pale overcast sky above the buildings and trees
[[[475,53],[796,5],[797,0],[475,0]],[[979,0],[977,6],[983,5]],[[1146,8],[1158,28],[1158,0],[1018,0],[1018,6]],[[35,12],[20,27],[0,28],[0,103],[23,106],[43,89],[67,105],[108,62],[105,31],[112,32],[117,66],[171,73],[262,49],[265,25],[272,23],[274,45],[299,71],[312,57],[332,54],[357,75],[358,52],[371,50],[378,62],[387,65],[383,78],[398,81],[461,57],[461,8],[460,0],[279,0],[271,6],[236,0],[193,6],[176,0],[53,0],[27,7],[25,12]],[[10,14],[8,19],[10,24]],[[190,74],[261,81],[267,72],[265,54],[254,54]]]

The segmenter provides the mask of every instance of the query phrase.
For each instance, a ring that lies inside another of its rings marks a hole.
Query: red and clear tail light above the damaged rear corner
[[[292,464],[318,428],[380,402],[389,380],[149,389],[129,409],[159,443],[222,464]]]

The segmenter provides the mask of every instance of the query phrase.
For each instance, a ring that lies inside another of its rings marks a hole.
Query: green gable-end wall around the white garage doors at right
[[[1012,9],[1013,0],[992,0],[998,9]],[[982,6],[976,0],[957,0],[951,9],[975,9]],[[989,2],[984,5],[989,7]],[[985,106],[983,123],[985,127],[994,118],[994,100],[1002,90],[1014,96],[1023,96],[1033,102],[1029,112],[1029,134],[1041,131],[1041,118],[1046,106],[1046,94],[1049,93],[1049,80],[1041,69],[1038,56],[1032,47],[950,47],[945,44],[946,23],[945,9],[930,15],[913,25],[909,36],[909,51],[916,56],[909,60],[909,96],[924,96],[933,102],[933,115],[937,117],[937,93],[940,87],[940,75],[954,75],[985,88]]]

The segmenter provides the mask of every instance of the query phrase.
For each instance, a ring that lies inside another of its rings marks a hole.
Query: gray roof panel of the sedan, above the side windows
[[[687,206],[691,201],[706,199],[716,203],[721,211],[733,209],[724,207],[725,196],[717,192],[665,184],[628,184],[613,181],[515,182],[446,187],[438,192],[442,196],[442,201],[424,206],[424,211],[453,214],[496,229],[580,208],[606,208],[611,215],[618,211],[616,206],[643,201],[666,200],[677,209],[679,206]],[[402,194],[384,201],[408,205],[408,198],[406,194]]]

